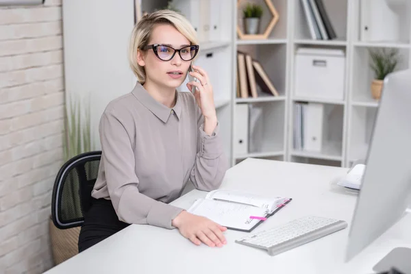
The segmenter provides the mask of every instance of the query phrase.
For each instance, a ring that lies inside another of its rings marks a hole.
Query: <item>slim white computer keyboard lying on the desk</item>
[[[236,242],[250,247],[265,249],[269,255],[274,256],[338,230],[345,229],[345,227],[347,227],[347,222],[345,221],[319,216],[306,216],[272,229],[245,236],[236,240]]]

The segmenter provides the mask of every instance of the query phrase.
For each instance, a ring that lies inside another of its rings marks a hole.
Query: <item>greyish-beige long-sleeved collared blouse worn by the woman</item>
[[[137,82],[101,116],[102,155],[92,197],[111,199],[125,223],[174,228],[171,221],[182,209],[169,203],[188,179],[200,190],[214,190],[228,169],[219,123],[208,136],[203,121],[191,92],[177,92],[171,109]]]

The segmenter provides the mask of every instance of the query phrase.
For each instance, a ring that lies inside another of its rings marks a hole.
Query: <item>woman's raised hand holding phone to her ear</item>
[[[189,72],[192,77],[197,78],[197,82],[188,82],[187,88],[192,90],[195,86],[195,99],[201,109],[201,112],[206,120],[216,119],[216,108],[214,106],[214,95],[210,78],[206,71],[199,66],[192,65],[192,72]]]

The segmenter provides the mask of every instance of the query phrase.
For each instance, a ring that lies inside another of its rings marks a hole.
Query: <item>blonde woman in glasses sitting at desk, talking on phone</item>
[[[199,82],[187,88],[195,86],[195,95],[176,90],[198,51],[195,30],[171,10],[134,27],[129,62],[138,82],[101,116],[101,163],[79,251],[131,223],[177,228],[195,245],[226,244],[226,227],[169,204],[188,180],[200,190],[219,188],[228,168],[207,72],[193,66]]]

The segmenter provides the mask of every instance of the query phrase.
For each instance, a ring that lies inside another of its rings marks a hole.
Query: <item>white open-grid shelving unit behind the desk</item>
[[[264,3],[258,0],[252,2]],[[266,134],[263,135],[261,142],[269,143],[271,147],[248,155],[233,151],[232,164],[240,162],[247,156],[331,166],[350,166],[353,161],[364,159],[379,105],[379,101],[371,97],[373,75],[369,69],[368,49],[397,48],[403,56],[397,69],[410,67],[410,24],[403,26],[405,39],[401,42],[362,42],[358,30],[360,0],[323,0],[338,38],[312,40],[300,0],[273,0],[272,2],[279,12],[279,23],[274,27],[269,39],[238,40],[236,37],[234,52],[237,49],[247,51],[253,58],[259,60],[281,96],[236,98],[236,62],[232,76],[234,108],[240,103],[259,102],[265,105],[265,112],[268,115],[275,114],[275,116],[263,117],[269,122],[266,122]],[[236,7],[236,1],[232,3]],[[241,10],[236,8],[236,12],[234,25],[241,25]],[[403,15],[407,16],[407,14],[411,13],[405,12]],[[401,20],[410,22],[410,18],[401,18]],[[343,100],[295,96],[295,52],[300,47],[342,49],[345,52]],[[320,152],[300,151],[293,147],[294,105],[299,102],[324,105],[323,146]],[[247,121],[238,121],[235,110],[233,113],[233,142],[236,142],[236,126]]]

